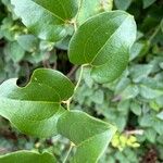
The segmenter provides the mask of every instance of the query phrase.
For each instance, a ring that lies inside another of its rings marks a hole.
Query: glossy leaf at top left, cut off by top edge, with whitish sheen
[[[67,22],[77,13],[76,0],[11,0],[15,13],[39,38],[57,41],[67,34]]]

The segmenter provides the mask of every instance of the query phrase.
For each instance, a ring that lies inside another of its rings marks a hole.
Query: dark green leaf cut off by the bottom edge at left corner
[[[5,155],[0,155],[0,163],[57,163],[54,156],[48,152],[39,154],[37,152],[17,151]]]

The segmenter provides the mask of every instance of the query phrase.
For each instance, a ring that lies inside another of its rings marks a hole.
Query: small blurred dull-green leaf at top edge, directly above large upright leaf
[[[133,0],[114,0],[114,3],[120,10],[127,10]]]

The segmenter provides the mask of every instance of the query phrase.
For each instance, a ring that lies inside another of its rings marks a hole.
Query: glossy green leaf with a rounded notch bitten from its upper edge
[[[63,74],[40,68],[26,87],[17,87],[15,78],[0,86],[0,115],[25,134],[49,137],[58,134],[58,118],[65,112],[61,101],[73,91],[74,85]]]

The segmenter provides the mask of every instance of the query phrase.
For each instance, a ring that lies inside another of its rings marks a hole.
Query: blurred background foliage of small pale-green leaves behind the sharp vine
[[[128,67],[105,85],[96,84],[85,68],[72,109],[117,126],[100,163],[163,163],[163,1],[114,0],[113,9],[129,12],[138,25]],[[1,0],[0,83],[18,77],[18,84],[25,85],[37,67],[59,70],[77,80],[79,70],[67,58],[71,35],[60,42],[40,40],[16,17],[10,0]],[[0,154],[49,150],[62,162],[68,147],[70,141],[61,136],[33,138],[0,117]]]

